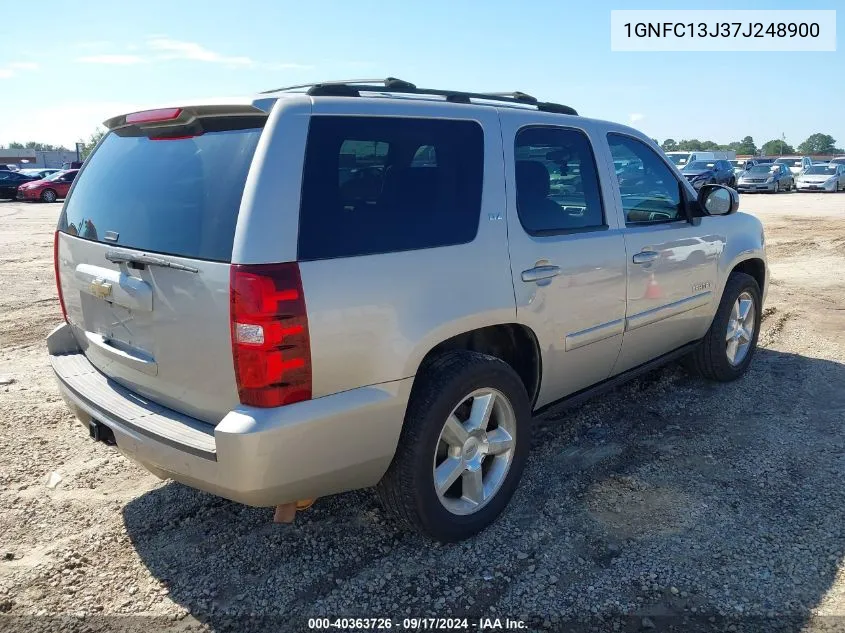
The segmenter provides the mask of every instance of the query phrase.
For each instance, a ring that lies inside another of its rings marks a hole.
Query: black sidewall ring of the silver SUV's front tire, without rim
[[[731,310],[733,305],[743,292],[748,292],[754,301],[754,336],[751,339],[751,346],[745,358],[739,365],[732,365],[728,360],[728,355],[725,347],[725,334],[728,330],[728,321],[731,317]],[[719,309],[716,311],[716,316],[710,326],[706,344],[710,346],[710,358],[712,358],[711,368],[719,380],[735,380],[742,376],[754,358],[754,353],[757,350],[757,340],[760,337],[760,325],[762,316],[762,298],[760,294],[760,287],[756,280],[751,275],[745,273],[734,273],[728,278],[728,283],[725,284],[725,291],[722,293],[722,301],[719,304]]]

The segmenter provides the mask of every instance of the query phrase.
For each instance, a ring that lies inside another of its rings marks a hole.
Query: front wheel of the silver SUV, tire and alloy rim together
[[[761,303],[760,286],[754,277],[731,274],[710,329],[690,355],[691,365],[699,374],[728,382],[748,370],[760,335]]]

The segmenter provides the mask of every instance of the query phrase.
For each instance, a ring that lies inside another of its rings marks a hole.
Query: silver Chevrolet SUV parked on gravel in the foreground
[[[395,79],[106,125],[48,348],[91,435],[163,478],[255,506],[377,486],[455,541],[507,505],[538,409],[754,354],[760,222],[631,128]]]

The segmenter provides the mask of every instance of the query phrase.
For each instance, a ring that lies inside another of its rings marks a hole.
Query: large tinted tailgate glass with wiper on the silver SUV
[[[260,135],[260,128],[248,128],[153,140],[111,132],[86,163],[59,230],[143,251],[231,261]]]

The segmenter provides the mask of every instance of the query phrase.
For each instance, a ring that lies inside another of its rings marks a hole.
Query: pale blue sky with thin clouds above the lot
[[[837,6],[838,5],[838,6]],[[120,8],[118,8],[120,7]],[[3,2],[0,144],[73,144],[110,116],[327,79],[520,90],[660,141],[810,134],[845,146],[836,52],[611,52],[617,0]],[[702,8],[689,5],[689,8]],[[837,9],[840,0],[711,0],[708,9]]]

